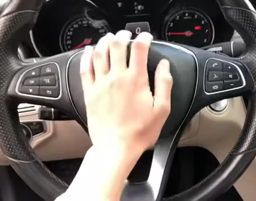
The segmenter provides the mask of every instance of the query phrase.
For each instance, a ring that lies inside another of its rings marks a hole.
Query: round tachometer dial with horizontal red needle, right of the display
[[[214,26],[203,12],[184,10],[168,17],[164,35],[170,42],[201,48],[212,44]]]

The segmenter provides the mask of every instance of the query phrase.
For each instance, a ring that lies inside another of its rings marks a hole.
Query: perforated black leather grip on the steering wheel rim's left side
[[[0,145],[7,157],[21,161],[33,160],[33,152],[20,128],[17,102],[7,97],[7,90],[15,73],[22,68],[15,56],[18,41],[35,15],[35,11],[20,11],[0,18]]]

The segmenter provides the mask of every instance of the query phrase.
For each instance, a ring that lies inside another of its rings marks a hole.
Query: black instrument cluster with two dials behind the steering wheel
[[[48,0],[30,38],[39,56],[96,44],[108,32],[142,31],[155,40],[201,48],[229,41],[234,29],[216,0]]]

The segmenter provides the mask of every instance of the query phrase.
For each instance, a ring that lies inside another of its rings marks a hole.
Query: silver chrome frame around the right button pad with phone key
[[[225,62],[225,63],[231,64],[232,66],[235,66],[236,69],[238,70],[239,74],[240,74],[241,79],[243,80],[243,86],[232,88],[232,89],[229,89],[229,90],[222,90],[222,91],[211,92],[211,93],[208,93],[207,91],[205,91],[206,65],[207,65],[208,61],[211,60],[211,59],[217,60],[217,61],[220,61],[220,62]],[[208,58],[207,61],[205,62],[205,70],[204,70],[203,74],[204,74],[204,77],[203,77],[203,90],[205,91],[205,94],[207,94],[207,95],[213,95],[213,94],[217,94],[217,93],[223,93],[223,92],[227,92],[227,91],[238,90],[238,89],[241,89],[241,88],[245,87],[245,85],[246,85],[246,81],[245,81],[245,78],[243,77],[243,73],[242,73],[241,69],[236,64],[234,64],[232,62],[229,62],[229,61],[225,61],[225,60],[219,59],[219,58]]]

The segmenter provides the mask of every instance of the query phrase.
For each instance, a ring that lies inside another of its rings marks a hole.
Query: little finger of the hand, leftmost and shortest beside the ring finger
[[[83,90],[86,91],[93,84],[95,77],[93,72],[93,47],[86,46],[80,60],[80,76]]]

